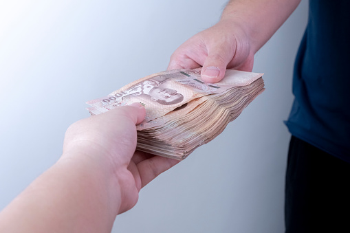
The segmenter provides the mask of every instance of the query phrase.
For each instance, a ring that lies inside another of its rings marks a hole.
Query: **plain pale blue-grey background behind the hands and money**
[[[60,157],[85,102],[163,71],[226,1],[0,0],[0,210]],[[292,67],[303,0],[256,54],[266,90],[215,140],[160,175],[113,232],[283,232]],[[38,219],[40,221],[40,219]]]

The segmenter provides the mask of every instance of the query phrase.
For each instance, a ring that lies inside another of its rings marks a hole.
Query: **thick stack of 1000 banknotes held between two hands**
[[[137,149],[184,159],[217,137],[264,90],[263,74],[228,69],[223,80],[207,83],[201,80],[200,71],[175,69],[146,76],[88,101],[91,107],[87,110],[97,115],[142,103],[146,118],[137,125]]]

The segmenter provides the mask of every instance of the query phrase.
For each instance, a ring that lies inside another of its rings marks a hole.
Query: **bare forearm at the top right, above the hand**
[[[255,54],[287,20],[301,0],[231,0],[221,21],[239,25]]]

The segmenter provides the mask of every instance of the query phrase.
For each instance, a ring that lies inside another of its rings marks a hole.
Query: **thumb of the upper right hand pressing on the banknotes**
[[[201,78],[204,82],[219,82],[226,73],[226,67],[232,60],[233,53],[223,45],[208,49],[208,56],[201,69]]]

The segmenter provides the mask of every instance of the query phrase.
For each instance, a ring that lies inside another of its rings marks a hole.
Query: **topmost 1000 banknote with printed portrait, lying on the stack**
[[[144,122],[159,118],[177,107],[201,96],[221,93],[232,87],[250,85],[262,74],[228,69],[226,78],[215,84],[203,82],[199,69],[175,69],[146,76],[108,96],[90,100],[88,109],[94,114],[104,113],[118,106],[141,102],[146,108]]]

